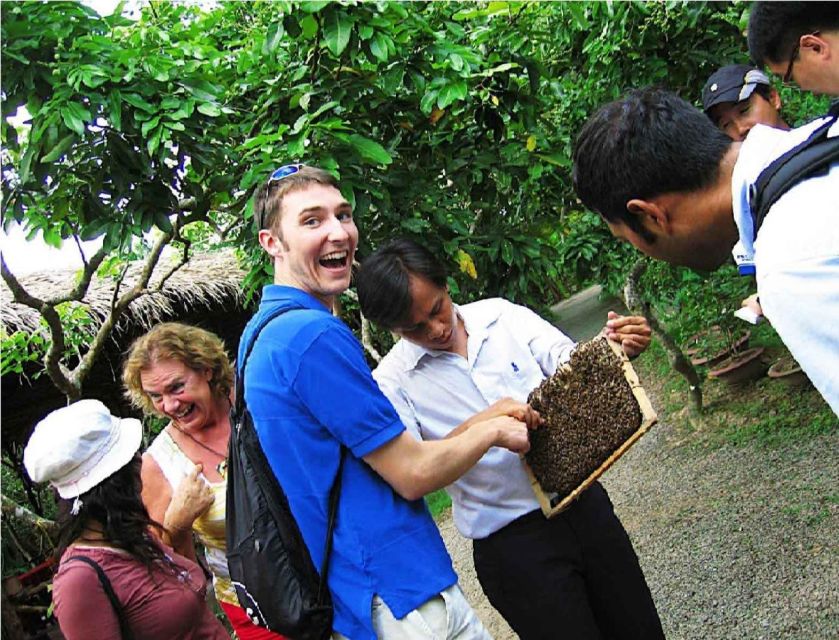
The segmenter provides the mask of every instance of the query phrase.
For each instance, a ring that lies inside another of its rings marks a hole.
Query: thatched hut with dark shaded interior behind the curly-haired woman
[[[161,257],[149,288],[154,289],[162,274],[176,263],[174,256]],[[137,282],[141,270],[141,263],[129,267],[120,285],[120,294]],[[48,271],[23,276],[18,280],[29,293],[46,299],[68,291],[75,283],[76,275],[74,271]],[[159,322],[176,320],[213,331],[224,340],[228,354],[235,356],[239,336],[250,317],[242,286],[244,276],[245,271],[239,266],[232,251],[195,254],[166,281],[160,291],[141,296],[129,305],[85,380],[83,396],[99,398],[122,415],[133,414],[122,397],[122,357],[136,337]],[[115,286],[115,277],[95,277],[91,282],[84,300],[93,319],[91,331],[95,331],[107,315]],[[40,331],[47,335],[40,314],[34,309],[13,303],[12,294],[5,282],[0,285],[0,299],[0,316],[7,334],[15,331]],[[37,364],[32,364],[24,371],[24,375],[3,376],[4,447],[25,442],[37,420],[66,403],[66,398],[46,374],[36,377],[39,368]]]

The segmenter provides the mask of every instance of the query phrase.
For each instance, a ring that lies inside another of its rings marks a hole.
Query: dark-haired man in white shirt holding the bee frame
[[[574,349],[556,327],[499,298],[456,306],[445,267],[425,247],[396,240],[357,277],[362,312],[402,337],[374,372],[402,423],[446,441],[478,420],[539,420],[529,392]],[[643,351],[643,318],[610,314],[607,333]],[[481,587],[523,640],[662,638],[632,543],[594,483],[552,519],[542,514],[520,457],[492,449],[447,487],[458,530],[473,539]]]

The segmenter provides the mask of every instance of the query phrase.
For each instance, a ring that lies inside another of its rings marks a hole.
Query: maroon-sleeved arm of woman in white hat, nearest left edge
[[[67,640],[121,637],[116,611],[93,567],[70,561],[56,577],[52,597]]]

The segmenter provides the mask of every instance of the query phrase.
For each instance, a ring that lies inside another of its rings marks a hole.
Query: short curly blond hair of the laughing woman
[[[180,322],[164,322],[137,338],[129,347],[122,368],[125,396],[146,414],[160,415],[143,390],[140,375],[157,362],[175,360],[195,371],[212,371],[210,390],[229,398],[233,389],[233,365],[224,342],[216,334]]]

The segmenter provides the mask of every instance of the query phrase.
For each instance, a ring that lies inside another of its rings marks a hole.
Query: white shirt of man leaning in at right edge
[[[822,122],[791,131],[755,126],[734,165],[732,202],[737,249],[754,255],[764,315],[839,415],[839,166],[782,195],[754,242],[748,205],[749,186],[760,172]],[[839,135],[839,123],[829,135]]]

